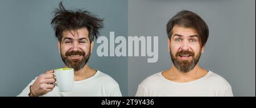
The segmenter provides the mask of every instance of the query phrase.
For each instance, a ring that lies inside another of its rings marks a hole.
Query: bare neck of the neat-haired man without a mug
[[[208,73],[207,70],[200,68],[199,65],[197,64],[195,68],[193,68],[187,73],[180,72],[176,67],[173,66],[170,69],[164,71],[162,74],[165,78],[171,81],[190,82],[205,76],[205,74],[207,73]]]

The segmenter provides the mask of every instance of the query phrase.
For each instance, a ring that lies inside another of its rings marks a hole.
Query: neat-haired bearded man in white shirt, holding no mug
[[[136,96],[233,96],[228,81],[199,67],[209,35],[199,15],[180,11],[169,20],[166,31],[174,66],[147,77],[138,86]]]

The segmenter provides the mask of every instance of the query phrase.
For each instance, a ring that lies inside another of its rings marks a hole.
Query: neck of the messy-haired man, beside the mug
[[[90,68],[88,63],[80,70],[75,71],[75,81],[85,80],[86,78],[92,77],[96,73],[96,70]]]

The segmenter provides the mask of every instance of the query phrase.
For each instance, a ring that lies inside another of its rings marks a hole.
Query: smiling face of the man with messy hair
[[[63,31],[63,38],[58,42],[58,46],[65,65],[77,71],[89,60],[93,41],[90,43],[87,28],[80,28],[76,31]]]

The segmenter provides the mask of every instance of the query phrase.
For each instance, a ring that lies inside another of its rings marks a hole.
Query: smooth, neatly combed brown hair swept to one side
[[[174,28],[176,25],[195,29],[199,35],[201,47],[203,47],[207,42],[209,36],[208,26],[199,15],[193,13],[192,11],[180,11],[168,21],[166,25],[168,39],[171,39],[172,28]]]

